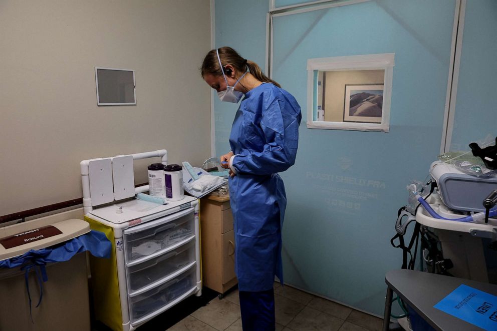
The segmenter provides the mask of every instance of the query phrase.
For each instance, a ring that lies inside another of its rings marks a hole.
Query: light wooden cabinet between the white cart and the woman
[[[200,200],[200,237],[203,286],[222,294],[238,282],[229,197],[207,196]]]

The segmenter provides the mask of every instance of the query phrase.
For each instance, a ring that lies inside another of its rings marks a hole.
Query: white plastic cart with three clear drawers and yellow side
[[[198,200],[160,205],[134,199],[133,160],[167,151],[81,162],[85,220],[106,233],[110,259],[91,259],[95,318],[133,330],[190,295],[200,295]]]

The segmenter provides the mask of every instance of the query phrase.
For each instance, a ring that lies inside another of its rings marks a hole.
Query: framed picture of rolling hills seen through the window
[[[346,84],[344,101],[344,122],[381,123],[383,84]]]

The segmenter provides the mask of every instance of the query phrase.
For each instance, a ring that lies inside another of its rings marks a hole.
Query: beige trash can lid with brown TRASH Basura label
[[[90,232],[90,224],[81,219],[47,223],[32,220],[0,228],[0,261],[71,240]]]

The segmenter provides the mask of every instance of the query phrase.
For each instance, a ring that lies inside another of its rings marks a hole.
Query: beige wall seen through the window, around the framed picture
[[[384,78],[384,70],[326,72],[325,121],[343,122],[345,84],[383,84]]]

